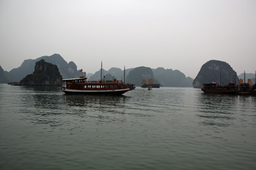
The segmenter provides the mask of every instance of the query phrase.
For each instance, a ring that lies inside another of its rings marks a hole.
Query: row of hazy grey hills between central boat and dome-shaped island
[[[100,80],[101,70],[90,75],[89,81]],[[121,80],[124,81],[124,71],[119,68],[112,67],[108,71],[102,69],[102,78],[105,76],[105,80]],[[193,79],[187,77],[179,70],[164,69],[158,67],[157,69],[151,69],[149,67],[140,66],[135,69],[125,69],[125,83],[135,84],[135,86],[141,86],[143,78],[146,82],[149,78],[153,78],[154,84],[160,84],[160,86],[169,87],[192,87]]]

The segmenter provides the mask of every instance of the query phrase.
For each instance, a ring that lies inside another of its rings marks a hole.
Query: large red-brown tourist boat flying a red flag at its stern
[[[122,81],[105,81],[102,78],[100,81],[87,81],[85,76],[80,76],[80,78],[63,79],[62,81],[61,89],[67,94],[122,95],[131,90]]]

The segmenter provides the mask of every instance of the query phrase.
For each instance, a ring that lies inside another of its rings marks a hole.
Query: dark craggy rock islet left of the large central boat
[[[26,86],[60,86],[62,84],[62,76],[56,65],[47,63],[42,59],[35,63],[35,71],[33,74],[23,78],[20,84]]]

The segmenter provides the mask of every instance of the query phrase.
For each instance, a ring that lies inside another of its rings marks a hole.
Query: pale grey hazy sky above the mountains
[[[60,54],[78,69],[256,70],[256,0],[0,0],[0,65]]]

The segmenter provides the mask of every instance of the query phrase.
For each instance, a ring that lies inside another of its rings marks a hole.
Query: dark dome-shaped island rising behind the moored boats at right
[[[221,78],[221,80],[220,80]],[[211,83],[212,80],[220,85],[226,85],[230,81],[239,82],[236,72],[232,67],[224,62],[217,60],[210,60],[201,67],[198,75],[193,81],[193,87],[201,88],[202,84]]]

